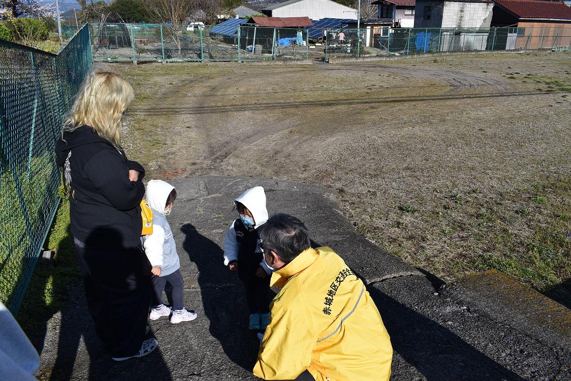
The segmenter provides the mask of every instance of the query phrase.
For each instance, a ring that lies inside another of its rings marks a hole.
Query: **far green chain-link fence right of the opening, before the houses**
[[[566,27],[472,29],[367,27],[359,30],[328,30],[325,59],[447,51],[565,50],[570,47],[571,29]]]

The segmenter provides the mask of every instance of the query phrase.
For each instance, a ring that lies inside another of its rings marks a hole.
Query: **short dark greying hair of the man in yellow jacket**
[[[309,248],[309,233],[305,224],[289,214],[278,213],[262,226],[260,232],[264,252],[274,251],[289,263]]]

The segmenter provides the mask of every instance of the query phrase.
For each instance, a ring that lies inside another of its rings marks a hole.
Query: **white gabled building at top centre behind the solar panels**
[[[269,17],[356,18],[357,10],[331,0],[288,0],[264,8]]]

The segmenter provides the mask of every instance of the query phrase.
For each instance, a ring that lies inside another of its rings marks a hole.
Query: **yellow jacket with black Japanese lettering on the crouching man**
[[[271,305],[254,374],[317,381],[385,381],[392,346],[363,282],[329,247],[308,248],[272,275],[282,286]]]

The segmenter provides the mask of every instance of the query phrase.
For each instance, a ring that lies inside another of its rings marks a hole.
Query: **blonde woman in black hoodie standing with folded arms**
[[[151,264],[140,242],[144,169],[119,145],[122,117],[133,97],[119,75],[94,71],[83,82],[56,147],[87,307],[116,361],[145,356],[157,346],[155,339],[144,339],[152,295]]]

